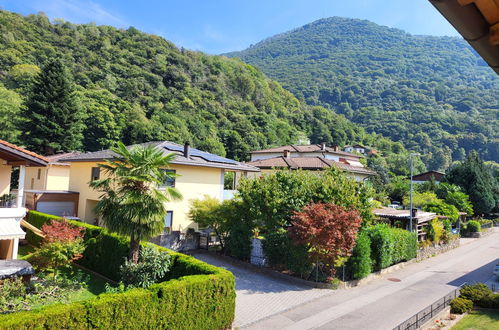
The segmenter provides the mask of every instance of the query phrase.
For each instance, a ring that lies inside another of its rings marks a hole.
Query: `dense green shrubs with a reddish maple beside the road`
[[[416,257],[415,233],[374,223],[372,196],[336,169],[283,170],[243,180],[232,200],[194,200],[190,216],[213,228],[221,253],[249,260],[260,239],[267,266],[337,283]]]

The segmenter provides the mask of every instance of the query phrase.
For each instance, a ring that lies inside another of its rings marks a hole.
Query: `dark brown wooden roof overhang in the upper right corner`
[[[429,1],[499,74],[499,1]]]

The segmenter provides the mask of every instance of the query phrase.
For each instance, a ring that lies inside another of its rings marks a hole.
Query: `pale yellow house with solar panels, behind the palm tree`
[[[174,153],[176,157],[166,169],[177,175],[175,180],[165,182],[164,186],[175,187],[183,196],[180,201],[169,202],[165,215],[165,231],[185,232],[188,228],[197,229],[197,224],[188,218],[190,200],[211,196],[220,200],[227,196],[224,190],[225,173],[258,172],[259,169],[232,159],[220,157],[198,149],[182,146],[169,141],[148,142],[142,146],[154,145],[165,154]],[[132,148],[133,146],[129,146]],[[70,163],[69,190],[79,192],[78,217],[91,224],[99,224],[94,208],[101,193],[93,190],[89,182],[101,178],[99,163],[112,159],[115,154],[110,150],[83,153],[63,159]]]

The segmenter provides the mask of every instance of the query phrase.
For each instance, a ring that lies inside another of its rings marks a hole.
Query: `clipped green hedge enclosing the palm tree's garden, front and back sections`
[[[31,211],[27,221],[40,228],[54,218],[57,217]],[[117,279],[119,264],[128,255],[128,239],[100,227],[76,221],[71,223],[85,228],[87,248],[81,264]],[[31,243],[39,243],[39,239],[33,239],[32,235],[27,235],[27,238]],[[164,282],[148,289],[101,294],[83,302],[0,315],[0,328],[230,328],[236,298],[232,273],[193,257],[157,248],[173,258],[172,268]]]

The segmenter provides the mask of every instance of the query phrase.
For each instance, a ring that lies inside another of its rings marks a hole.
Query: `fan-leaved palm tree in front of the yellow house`
[[[90,182],[92,188],[103,193],[95,210],[110,231],[130,237],[129,260],[137,263],[140,241],[163,230],[165,203],[182,198],[175,188],[158,189],[167,178],[175,176],[164,170],[175,154],[165,156],[154,146],[127,149],[121,142],[111,150],[117,156],[99,164],[107,175]]]

